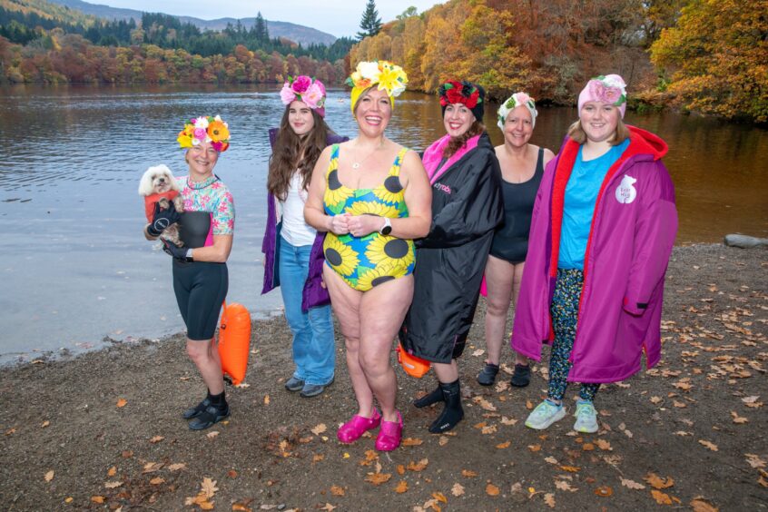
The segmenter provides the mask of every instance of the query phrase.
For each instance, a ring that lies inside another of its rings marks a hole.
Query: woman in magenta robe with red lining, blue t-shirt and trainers
[[[579,119],[546,166],[531,221],[512,348],[541,359],[552,342],[546,400],[526,420],[566,416],[567,382],[580,382],[578,432],[596,432],[601,382],[660,359],[667,262],[677,231],[664,141],[623,122],[626,84],[609,74],[578,97]]]

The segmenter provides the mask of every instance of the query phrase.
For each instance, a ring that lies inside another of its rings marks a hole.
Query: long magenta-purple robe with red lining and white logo
[[[597,196],[586,245],[584,288],[568,380],[615,382],[661,357],[661,314],[667,263],[677,232],[674,185],[661,157],[666,143],[630,126],[630,143]],[[579,144],[566,139],[546,165],[531,220],[512,348],[541,359],[553,340],[555,290],[566,184]]]

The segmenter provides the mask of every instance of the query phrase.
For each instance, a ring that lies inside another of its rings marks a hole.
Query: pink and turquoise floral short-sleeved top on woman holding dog
[[[234,233],[234,200],[227,185],[218,176],[204,182],[192,182],[189,176],[176,178],[182,189],[185,212],[211,213],[212,234]]]

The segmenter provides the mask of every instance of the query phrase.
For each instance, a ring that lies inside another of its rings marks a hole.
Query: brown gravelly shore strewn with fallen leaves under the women
[[[389,454],[374,451],[372,437],[349,446],[336,440],[355,410],[341,342],[325,394],[302,399],[283,389],[292,366],[282,318],[255,324],[247,385],[227,390],[232,416],[202,433],[181,418],[203,393],[181,335],[2,369],[0,503],[6,510],[765,510],[766,275],[765,250],[676,248],[662,362],[601,389],[595,435],[577,435],[570,416],[543,432],[526,428],[528,409],[545,396],[546,368],[536,368],[528,388],[510,389],[508,349],[497,386],[477,384],[482,300],[459,361],[464,421],[449,435],[430,435],[438,409],[409,402],[432,389],[434,377],[411,379],[398,369],[407,439]]]

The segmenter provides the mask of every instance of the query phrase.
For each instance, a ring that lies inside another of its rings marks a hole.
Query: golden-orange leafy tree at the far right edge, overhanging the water
[[[687,109],[768,122],[768,0],[693,0],[651,46]]]

